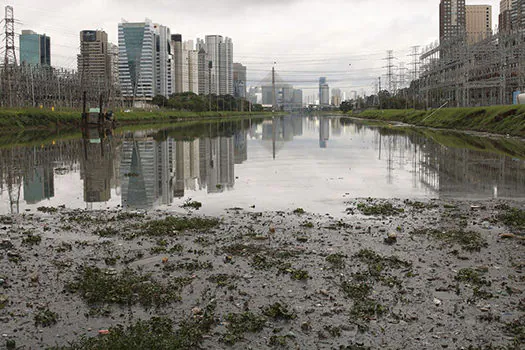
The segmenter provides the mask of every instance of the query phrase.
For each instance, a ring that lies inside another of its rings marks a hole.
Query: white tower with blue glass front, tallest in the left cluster
[[[119,81],[124,98],[148,100],[155,96],[155,41],[150,20],[119,23]]]

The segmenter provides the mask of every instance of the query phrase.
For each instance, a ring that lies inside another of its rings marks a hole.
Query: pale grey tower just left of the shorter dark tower
[[[197,39],[197,49],[204,48],[212,62],[211,93],[233,94],[233,42],[221,35],[206,35],[205,42]]]

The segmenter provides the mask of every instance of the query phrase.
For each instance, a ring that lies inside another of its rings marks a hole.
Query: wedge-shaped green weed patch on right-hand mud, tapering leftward
[[[458,244],[461,248],[469,252],[480,251],[481,248],[488,246],[487,241],[481,237],[481,234],[474,231],[418,229],[412,231],[411,234],[427,235],[447,244]]]

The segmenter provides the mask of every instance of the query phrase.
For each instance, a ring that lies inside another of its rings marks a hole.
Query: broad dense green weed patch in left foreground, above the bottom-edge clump
[[[176,281],[180,282],[180,281]],[[185,284],[160,284],[149,275],[131,269],[120,273],[98,267],[80,268],[75,280],[67,286],[79,293],[89,304],[108,303],[121,305],[161,306],[180,300],[179,291]]]

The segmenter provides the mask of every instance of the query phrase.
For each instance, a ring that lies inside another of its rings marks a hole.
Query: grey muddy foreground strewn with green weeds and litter
[[[0,216],[0,347],[521,348],[523,203],[346,205]]]

